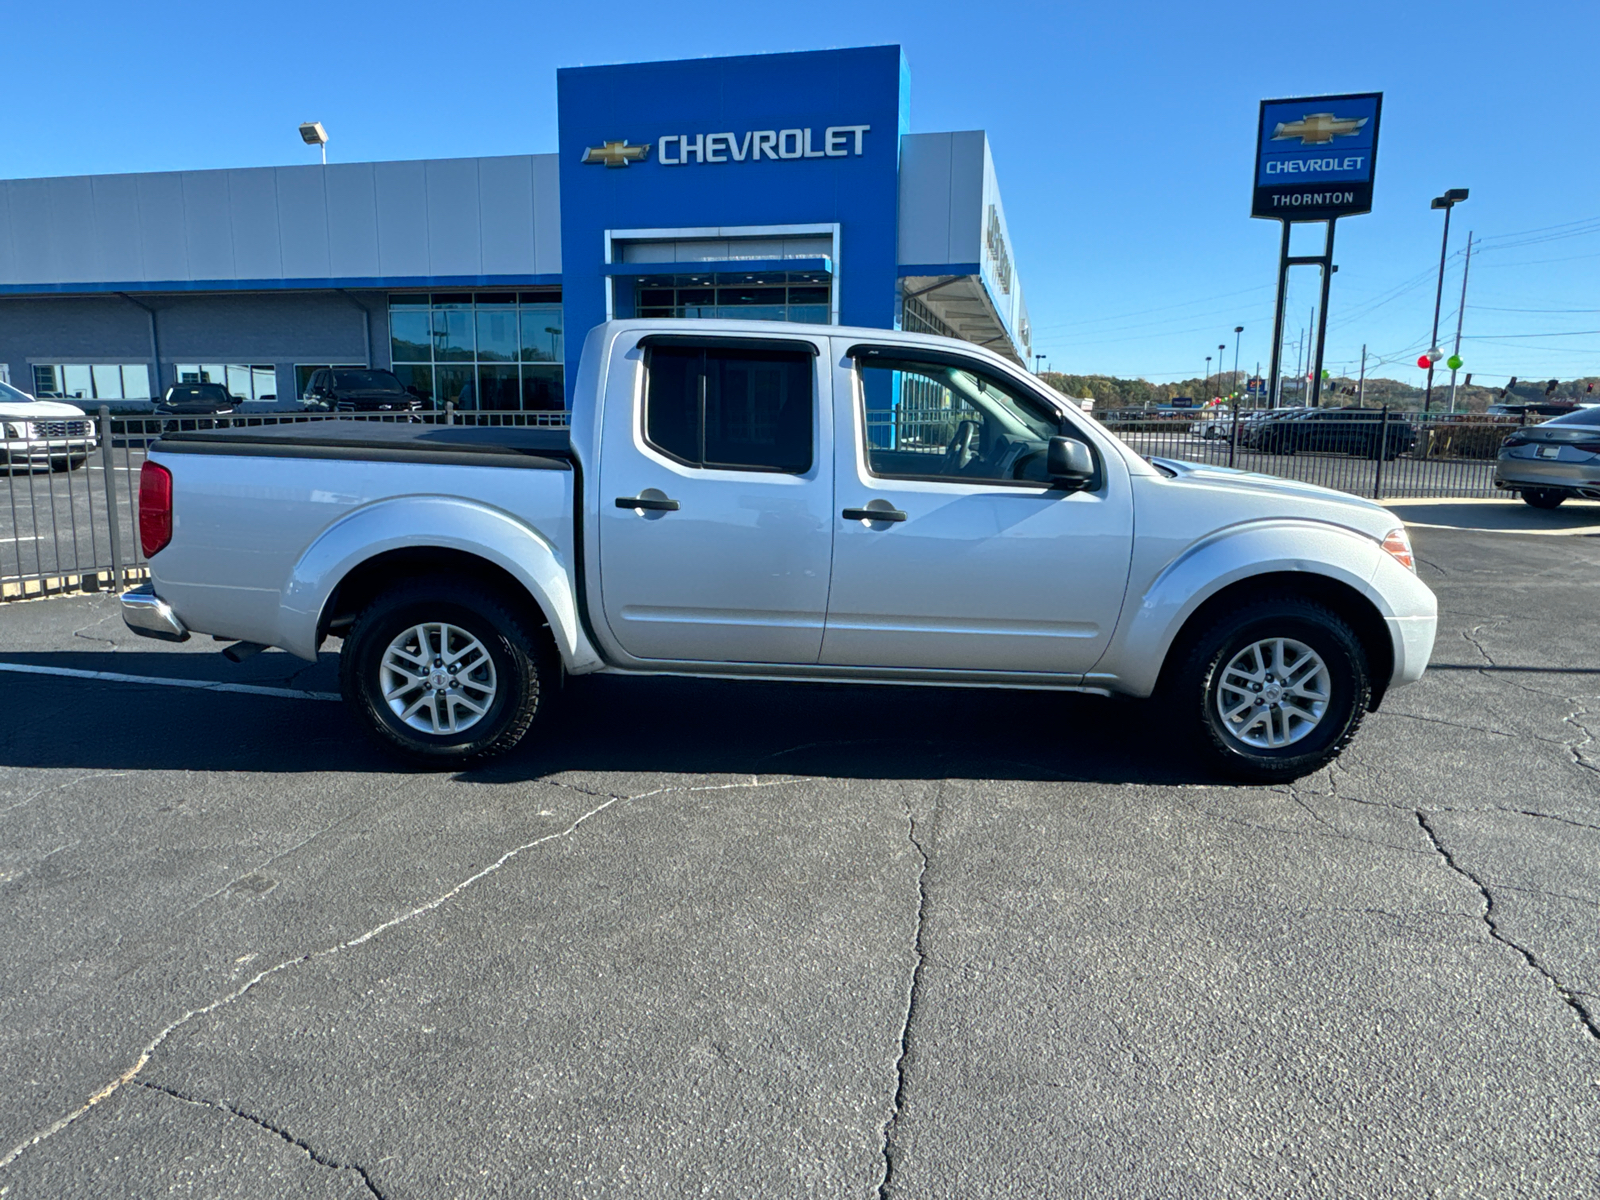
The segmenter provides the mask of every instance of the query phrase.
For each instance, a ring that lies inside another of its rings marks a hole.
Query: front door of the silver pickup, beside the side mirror
[[[955,354],[854,347],[838,355],[834,390],[838,509],[822,662],[1090,670],[1117,626],[1133,552],[1122,461],[1096,451],[1093,488],[1051,488],[1045,448],[1074,432],[1066,418]]]

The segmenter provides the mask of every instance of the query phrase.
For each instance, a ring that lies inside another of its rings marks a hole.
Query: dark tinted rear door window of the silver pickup
[[[645,440],[691,467],[811,469],[814,357],[787,350],[650,350]]]

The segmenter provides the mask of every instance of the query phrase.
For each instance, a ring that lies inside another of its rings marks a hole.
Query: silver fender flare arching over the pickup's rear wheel
[[[594,656],[578,627],[571,563],[525,522],[456,496],[378,501],[323,530],[283,584],[278,602],[283,650],[315,661],[317,627],[333,590],[370,558],[418,549],[459,550],[502,568],[539,605],[568,667]]]

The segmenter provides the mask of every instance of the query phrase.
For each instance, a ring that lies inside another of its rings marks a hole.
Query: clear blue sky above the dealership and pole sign
[[[555,69],[898,42],[912,128],[989,131],[1050,368],[1198,374],[1269,355],[1277,224],[1251,221],[1261,98],[1384,91],[1374,211],[1339,224],[1328,365],[1421,381],[1429,198],[1469,187],[1478,381],[1600,374],[1600,5],[80,3],[6,16],[8,176],[555,149]],[[1531,232],[1530,232],[1531,230]],[[1309,232],[1302,230],[1302,232]],[[1454,333],[1461,258],[1445,280]],[[1290,339],[1306,323],[1294,282]],[[1446,346],[1448,350],[1448,346]]]

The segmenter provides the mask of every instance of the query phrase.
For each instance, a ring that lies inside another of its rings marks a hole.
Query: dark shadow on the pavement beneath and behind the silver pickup
[[[277,659],[277,661],[274,661]],[[6,654],[123,675],[338,690],[338,656],[245,664],[162,651]],[[29,702],[0,731],[6,766],[410,773],[342,704],[53,675],[3,675]],[[989,688],[576,678],[528,741],[462,773],[510,784],[562,771],[846,779],[1216,782],[1152,706]]]

